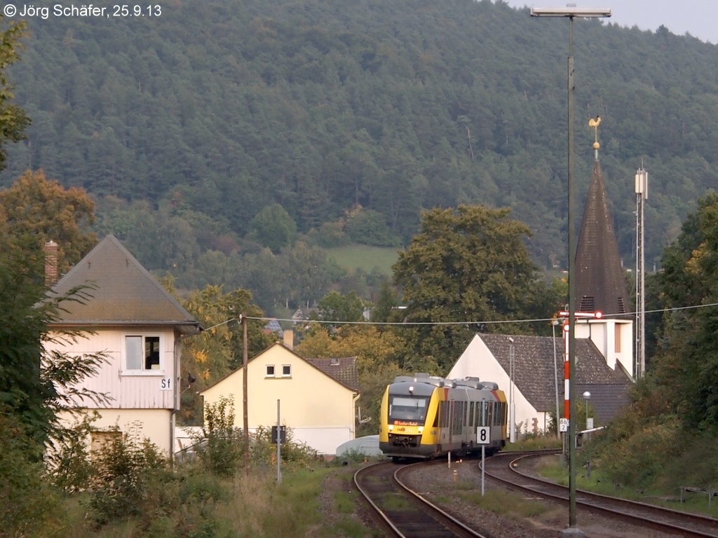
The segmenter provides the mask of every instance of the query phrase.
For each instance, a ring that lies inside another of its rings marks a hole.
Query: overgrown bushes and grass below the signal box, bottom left
[[[90,452],[90,416],[73,426],[47,468],[24,456],[22,428],[0,416],[0,537],[289,538],[320,523],[317,498],[333,466],[290,432],[278,486],[269,428],[251,436],[245,460],[233,410],[220,402],[207,415],[212,426],[195,457],[174,466],[139,424]]]

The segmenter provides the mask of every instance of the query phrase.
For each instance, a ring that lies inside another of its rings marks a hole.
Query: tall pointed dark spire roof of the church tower
[[[593,165],[575,260],[576,310],[607,317],[627,313],[625,275],[599,161]]]

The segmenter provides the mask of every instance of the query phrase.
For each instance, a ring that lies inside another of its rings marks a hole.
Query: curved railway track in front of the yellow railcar
[[[354,483],[382,526],[398,538],[488,538],[470,529],[401,483],[414,463],[375,463],[359,469]]]

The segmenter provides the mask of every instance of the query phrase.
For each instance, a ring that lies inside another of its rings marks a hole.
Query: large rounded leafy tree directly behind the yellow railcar
[[[523,316],[531,304],[536,267],[524,243],[531,231],[509,213],[459,206],[422,215],[393,266],[406,320],[427,324],[413,329],[414,366],[446,373],[475,331],[505,330],[488,322]],[[438,322],[445,324],[430,325]]]

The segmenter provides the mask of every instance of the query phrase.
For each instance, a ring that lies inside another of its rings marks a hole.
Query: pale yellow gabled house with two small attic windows
[[[239,368],[200,392],[205,406],[230,397],[237,428],[244,423],[243,375]],[[279,423],[320,454],[334,455],[355,438],[358,398],[356,357],[304,359],[278,343],[247,364],[248,430],[276,425],[279,402]]]

